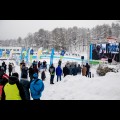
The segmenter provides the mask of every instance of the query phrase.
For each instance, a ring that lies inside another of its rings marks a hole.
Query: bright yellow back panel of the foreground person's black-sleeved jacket
[[[4,87],[5,100],[22,100],[16,84],[7,83]]]

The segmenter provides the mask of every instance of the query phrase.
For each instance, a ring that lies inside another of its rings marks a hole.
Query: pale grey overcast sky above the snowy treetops
[[[43,28],[52,31],[56,27],[85,27],[109,24],[116,20],[0,20],[0,40],[24,38],[28,33],[37,32]]]

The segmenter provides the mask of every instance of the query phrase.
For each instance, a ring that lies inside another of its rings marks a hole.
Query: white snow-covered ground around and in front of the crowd
[[[49,63],[48,59],[46,61]],[[67,61],[63,59],[62,67]],[[16,72],[20,75],[20,67],[16,65],[15,61],[7,60],[5,62],[7,65],[9,62],[13,62],[16,66]],[[54,59],[55,67],[57,62],[58,59]],[[1,63],[2,61],[0,61],[0,65]],[[118,65],[109,66],[119,67]],[[55,76],[55,84],[50,84],[50,74],[47,70],[46,80],[44,81],[45,89],[41,100],[120,100],[120,70],[118,73],[109,72],[106,76],[99,77],[96,74],[96,68],[97,65],[91,68],[94,78],[87,78],[82,75],[68,75],[65,78],[62,76],[62,81],[57,82],[57,77]],[[39,74],[39,78],[40,76]]]

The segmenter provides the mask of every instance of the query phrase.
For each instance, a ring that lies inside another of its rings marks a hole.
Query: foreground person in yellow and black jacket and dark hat
[[[8,83],[3,88],[2,100],[25,100],[23,87],[17,77],[9,77]]]

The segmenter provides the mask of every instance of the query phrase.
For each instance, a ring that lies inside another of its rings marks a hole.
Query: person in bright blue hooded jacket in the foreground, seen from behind
[[[33,81],[30,83],[30,92],[33,100],[40,100],[42,92],[44,90],[44,83],[38,78],[38,74],[33,74]]]

